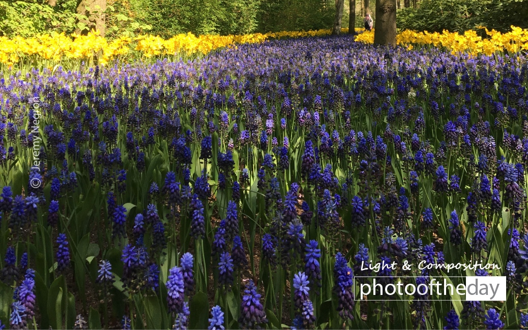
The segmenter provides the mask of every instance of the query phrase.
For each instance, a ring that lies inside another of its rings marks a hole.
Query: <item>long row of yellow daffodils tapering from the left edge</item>
[[[107,64],[119,55],[125,55],[133,49],[147,58],[156,55],[173,55],[176,53],[201,53],[207,54],[212,50],[242,43],[259,43],[269,39],[283,37],[303,37],[328,35],[330,30],[318,31],[293,31],[277,33],[253,33],[246,35],[200,35],[192,33],[178,34],[171,39],[163,39],[154,35],[140,35],[131,39],[121,36],[118,39],[107,41],[98,32],[88,35],[72,34],[71,37],[64,33],[36,35],[30,38],[0,37],[0,63],[14,64],[24,59],[40,58],[51,62],[60,62],[64,59],[93,59],[97,56],[99,64]]]

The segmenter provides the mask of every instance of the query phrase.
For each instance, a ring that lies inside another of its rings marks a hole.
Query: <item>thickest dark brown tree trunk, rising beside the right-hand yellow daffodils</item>
[[[396,0],[376,0],[374,43],[396,45]]]

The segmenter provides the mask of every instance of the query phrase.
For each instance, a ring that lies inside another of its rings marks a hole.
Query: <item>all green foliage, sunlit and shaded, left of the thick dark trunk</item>
[[[88,18],[76,11],[75,0],[58,0],[54,7],[43,0],[0,0],[0,35],[80,31]],[[329,29],[334,12],[335,4],[328,0],[107,0],[106,36],[152,33],[168,38],[187,32],[225,35]]]

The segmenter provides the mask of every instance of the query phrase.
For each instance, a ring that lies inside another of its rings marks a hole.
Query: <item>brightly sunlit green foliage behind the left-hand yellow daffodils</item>
[[[108,1],[106,36],[152,33],[246,34],[257,29],[260,0],[117,0]],[[76,1],[55,7],[31,0],[0,0],[0,35],[24,37],[52,31],[67,34],[83,30]],[[155,22],[155,24],[153,24]]]

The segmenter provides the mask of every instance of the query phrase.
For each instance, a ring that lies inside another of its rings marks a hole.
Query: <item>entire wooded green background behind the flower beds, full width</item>
[[[528,27],[528,0],[396,0],[398,30],[464,32],[485,26]],[[342,27],[355,3],[356,27],[375,0],[345,0]],[[91,8],[89,11],[80,8]],[[107,39],[125,34],[247,34],[331,29],[335,0],[0,0],[0,35],[86,33],[90,16],[106,16]]]

